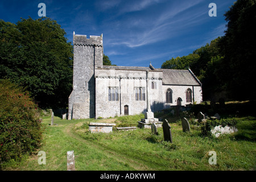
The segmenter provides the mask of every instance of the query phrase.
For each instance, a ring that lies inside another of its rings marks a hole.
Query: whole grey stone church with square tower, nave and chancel
[[[202,84],[188,70],[103,65],[103,36],[73,33],[73,91],[68,119],[109,118],[203,101]]]

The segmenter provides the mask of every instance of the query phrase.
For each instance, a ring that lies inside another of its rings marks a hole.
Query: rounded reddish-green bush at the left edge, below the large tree
[[[42,127],[38,107],[29,93],[9,80],[0,80],[0,164],[20,159],[39,147]],[[0,165],[1,168],[1,165]]]

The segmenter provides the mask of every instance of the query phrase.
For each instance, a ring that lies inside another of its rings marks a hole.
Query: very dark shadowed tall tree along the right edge
[[[226,89],[236,100],[255,100],[252,88],[256,77],[256,1],[238,0],[225,14],[228,22],[225,36],[221,39],[222,70]]]

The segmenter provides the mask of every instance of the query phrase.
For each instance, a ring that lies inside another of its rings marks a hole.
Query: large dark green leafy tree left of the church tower
[[[73,47],[49,18],[0,20],[0,78],[26,87],[39,106],[65,107],[72,92]]]

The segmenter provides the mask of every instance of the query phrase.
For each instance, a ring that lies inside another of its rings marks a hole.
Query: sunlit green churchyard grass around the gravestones
[[[173,143],[163,141],[150,129],[93,134],[89,122],[115,122],[119,126],[137,126],[142,115],[111,119],[67,121],[44,117],[44,139],[40,150],[32,156],[4,164],[5,170],[67,170],[67,151],[75,151],[76,170],[255,170],[256,118],[238,118],[238,132],[219,138],[203,137],[197,127],[182,131],[181,122],[170,123]],[[216,151],[217,164],[210,165],[209,151]],[[46,165],[38,164],[39,151],[46,152]]]

